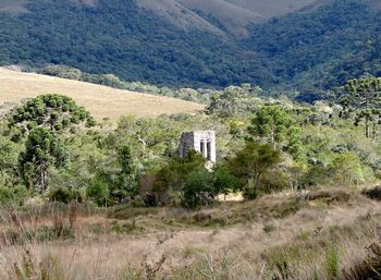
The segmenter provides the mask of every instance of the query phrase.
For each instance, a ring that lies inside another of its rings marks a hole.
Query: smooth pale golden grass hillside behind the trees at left
[[[98,120],[109,118],[118,121],[126,114],[156,117],[163,113],[196,113],[204,109],[202,105],[174,98],[0,68],[0,112],[1,108],[7,109],[41,94],[70,96]]]

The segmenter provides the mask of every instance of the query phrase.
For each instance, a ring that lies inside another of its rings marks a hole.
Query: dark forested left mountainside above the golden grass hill
[[[239,75],[246,80],[244,64],[235,63],[235,46],[213,33],[184,32],[131,0],[101,0],[93,7],[37,0],[28,10],[1,13],[0,37],[14,42],[1,40],[1,64],[63,64],[127,81],[183,86],[228,85]]]

